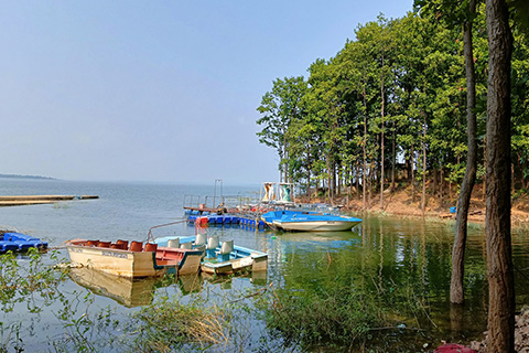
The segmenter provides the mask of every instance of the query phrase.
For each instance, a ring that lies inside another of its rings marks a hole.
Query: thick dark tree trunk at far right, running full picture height
[[[515,352],[515,286],[510,242],[510,58],[505,0],[487,0],[487,239],[488,352]]]

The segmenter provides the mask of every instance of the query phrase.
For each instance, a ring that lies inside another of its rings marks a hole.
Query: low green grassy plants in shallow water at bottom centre
[[[406,327],[400,318],[429,315],[424,293],[419,289],[415,292],[413,286],[392,282],[382,289],[375,278],[367,278],[373,286],[360,287],[347,286],[341,278],[334,280],[334,286],[324,290],[278,289],[260,298],[258,308],[272,334],[281,335],[287,346],[307,349],[332,343],[347,347],[380,331]],[[356,282],[361,281],[359,278]]]

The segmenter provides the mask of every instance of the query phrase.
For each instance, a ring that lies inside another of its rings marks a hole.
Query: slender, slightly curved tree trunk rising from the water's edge
[[[476,12],[476,0],[469,2],[469,14]],[[472,47],[472,20],[465,23],[463,33],[465,68],[466,68],[466,130],[468,151],[466,157],[465,178],[461,185],[460,200],[457,201],[457,215],[455,221],[455,238],[452,249],[452,278],[450,281],[450,301],[453,303],[463,303],[465,291],[463,279],[465,276],[465,247],[467,235],[468,208],[471,206],[471,195],[476,182],[477,170],[477,124],[476,114],[476,79],[474,72],[474,54]]]

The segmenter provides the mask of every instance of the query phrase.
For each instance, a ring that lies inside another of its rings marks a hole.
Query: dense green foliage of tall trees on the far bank
[[[382,163],[406,159],[420,165],[422,158],[418,158],[425,150],[422,169],[443,170],[451,183],[461,183],[467,149],[463,24],[468,21],[473,23],[478,136],[483,137],[486,122],[485,4],[475,2],[473,13],[469,0],[415,0],[415,12],[391,20],[379,15],[359,24],[356,39],[348,40],[334,57],[310,65],[306,83],[274,81],[274,89],[258,108],[263,115],[258,124],[264,126],[258,135],[262,143],[278,150],[280,169],[288,170],[285,178],[306,184],[305,190],[320,186],[333,193],[338,176],[346,184],[355,183],[354,179],[361,183],[364,172],[368,179],[380,179]],[[515,39],[512,160],[516,185],[527,186],[529,8],[527,1],[508,2]],[[478,168],[484,165],[482,137]],[[395,141],[395,151],[389,141]],[[368,170],[360,171],[363,165]]]

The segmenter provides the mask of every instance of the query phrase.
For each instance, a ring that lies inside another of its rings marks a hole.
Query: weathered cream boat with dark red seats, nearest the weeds
[[[99,242],[73,239],[65,243],[74,265],[128,277],[159,277],[166,274],[197,274],[202,252],[161,247],[156,244],[127,240]]]

